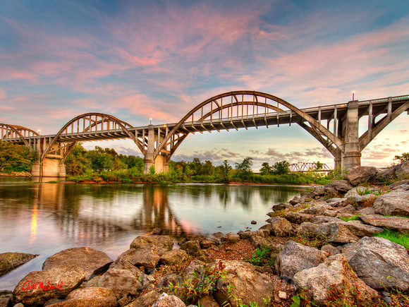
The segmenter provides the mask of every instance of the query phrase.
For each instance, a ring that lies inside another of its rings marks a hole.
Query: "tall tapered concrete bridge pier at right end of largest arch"
[[[346,114],[346,136],[343,150],[343,169],[352,169],[361,164],[359,143],[358,100],[348,102]]]

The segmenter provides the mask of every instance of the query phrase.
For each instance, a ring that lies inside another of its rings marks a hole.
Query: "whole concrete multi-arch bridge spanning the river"
[[[197,104],[173,124],[132,126],[109,114],[87,113],[71,119],[54,135],[40,136],[12,124],[0,124],[0,129],[1,140],[38,152],[33,176],[65,176],[63,162],[78,142],[130,138],[145,156],[147,173],[152,165],[167,171],[169,159],[190,134],[291,124],[304,128],[331,152],[335,169],[350,169],[360,165],[362,150],[403,112],[409,114],[409,95],[298,109],[264,92],[235,91]],[[367,131],[359,136],[364,116]]]

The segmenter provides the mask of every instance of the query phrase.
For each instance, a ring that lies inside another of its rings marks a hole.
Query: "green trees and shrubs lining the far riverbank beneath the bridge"
[[[1,142],[0,176],[30,176],[32,162],[36,154],[28,148]],[[320,172],[317,169],[306,173],[292,173],[287,161],[269,165],[262,164],[259,174],[252,171],[252,157],[233,166],[224,160],[214,166],[211,161],[201,162],[194,158],[192,162],[169,161],[169,171],[158,173],[154,167],[144,174],[144,159],[133,155],[118,155],[114,149],[99,148],[85,150],[81,144],[75,145],[65,160],[66,180],[76,183],[253,183],[253,184],[289,184],[289,185],[325,185],[333,180],[334,174]]]

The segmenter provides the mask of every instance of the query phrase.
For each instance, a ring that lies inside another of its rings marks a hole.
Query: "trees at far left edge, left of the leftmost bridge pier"
[[[0,141],[0,171],[31,171],[36,158],[25,146]]]

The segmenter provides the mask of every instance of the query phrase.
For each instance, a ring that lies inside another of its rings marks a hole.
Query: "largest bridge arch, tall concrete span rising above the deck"
[[[254,120],[255,116],[260,117],[264,114],[264,126],[267,126],[268,128],[267,116],[276,114],[277,124],[279,125],[279,116],[285,112],[290,116],[290,124],[291,117],[298,115],[303,120],[296,122],[296,124],[300,125],[308,133],[314,136],[319,143],[322,143],[322,145],[334,155],[334,157],[340,155],[343,141],[329,131],[328,128],[320,124],[319,121],[312,118],[312,116],[293,106],[293,104],[274,95],[264,92],[240,90],[225,92],[197,104],[196,107],[183,116],[176,126],[173,126],[169,133],[166,133],[160,143],[158,142],[152,158],[156,159],[161,152],[167,152],[168,155],[166,159],[169,161],[173,152],[179,145],[181,145],[181,142],[188,136],[188,134],[190,132],[195,132],[194,125],[202,124],[203,127],[203,124],[206,122],[207,124],[210,123],[214,130],[220,131],[219,128],[214,126],[214,124],[217,123],[228,131],[225,124],[226,120],[228,121],[230,119],[231,126],[238,130],[238,127],[233,124],[233,121],[241,119],[241,122],[247,129],[244,120],[252,118],[255,127],[257,128],[257,124]],[[225,124],[223,124],[223,122]],[[202,131],[198,132],[202,133]],[[167,150],[166,148],[168,147],[170,147],[171,150]]]

